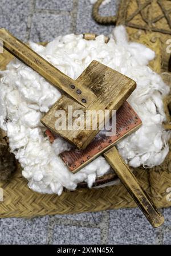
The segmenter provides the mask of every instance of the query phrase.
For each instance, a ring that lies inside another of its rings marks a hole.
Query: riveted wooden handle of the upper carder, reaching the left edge
[[[86,84],[82,86],[67,75],[64,75],[47,60],[32,51],[26,44],[11,35],[6,29],[0,29],[0,39],[3,41],[3,47],[7,51],[38,72],[55,87],[66,92],[66,94],[70,95],[84,107],[88,107],[95,99],[95,95],[86,88]]]

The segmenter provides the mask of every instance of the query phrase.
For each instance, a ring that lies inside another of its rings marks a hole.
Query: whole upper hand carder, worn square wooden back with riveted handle
[[[0,29],[0,39],[7,51],[67,94],[67,96],[62,95],[52,106],[50,111],[42,118],[42,123],[52,132],[64,137],[78,148],[87,147],[99,132],[101,123],[97,121],[97,129],[56,129],[55,122],[58,117],[55,116],[55,112],[63,109],[67,115],[63,118],[68,119],[68,105],[72,106],[73,112],[75,110],[86,112],[86,109],[93,111],[117,110],[136,88],[135,81],[95,60],[89,64],[78,79],[73,80],[32,51],[7,30]],[[74,117],[72,119],[69,121],[75,121]]]

